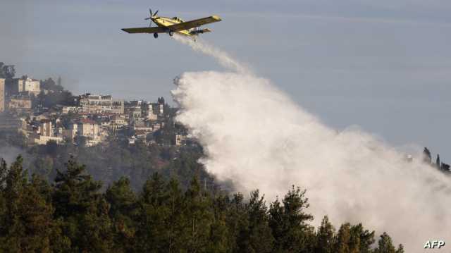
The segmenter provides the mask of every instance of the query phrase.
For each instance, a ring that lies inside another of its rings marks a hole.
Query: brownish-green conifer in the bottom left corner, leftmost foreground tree
[[[52,217],[49,191],[42,178],[33,175],[31,182],[27,181],[19,156],[10,167],[2,190],[8,198],[0,221],[1,252],[51,252],[54,245],[63,245]]]

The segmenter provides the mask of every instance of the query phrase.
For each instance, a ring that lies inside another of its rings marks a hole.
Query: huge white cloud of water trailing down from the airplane
[[[227,54],[182,42],[233,70],[175,79],[177,119],[202,143],[209,172],[242,192],[259,188],[269,201],[290,185],[304,187],[314,225],[326,214],[335,224],[362,222],[407,252],[421,252],[426,240],[451,240],[451,182],[420,154],[408,162],[359,128],[328,128]]]

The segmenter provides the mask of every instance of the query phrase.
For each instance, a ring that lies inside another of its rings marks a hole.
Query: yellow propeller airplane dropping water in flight
[[[150,17],[144,19],[151,20],[149,27],[123,28],[122,30],[128,33],[153,33],[155,39],[158,38],[159,33],[168,33],[169,36],[173,36],[174,32],[177,32],[180,35],[195,38],[201,33],[211,32],[211,30],[209,30],[208,28],[199,29],[199,26],[221,21],[221,18],[219,18],[218,16],[209,16],[206,18],[183,21],[178,17],[168,18],[156,16],[156,13],[158,13],[158,11],[152,14],[151,9],[149,9],[149,12]],[[154,22],[158,26],[152,27],[152,22]]]

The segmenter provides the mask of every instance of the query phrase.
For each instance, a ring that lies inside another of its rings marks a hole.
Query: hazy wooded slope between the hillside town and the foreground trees
[[[27,147],[23,135],[5,131],[0,131],[0,143],[18,149],[17,154],[23,155],[23,167],[26,171],[48,180],[54,180],[57,171],[63,171],[66,161],[73,156],[87,166],[87,172],[95,180],[101,180],[106,185],[126,176],[130,179],[133,190],[140,190],[150,175],[159,172],[166,180],[177,178],[183,189],[190,185],[191,178],[196,175],[210,191],[218,190],[214,177],[197,162],[203,155],[202,147],[197,145],[174,147],[147,145],[141,141],[130,145],[127,139],[110,135],[106,142],[94,147],[71,142],[48,142],[45,145]],[[223,190],[229,189],[228,185],[230,184],[221,183]]]

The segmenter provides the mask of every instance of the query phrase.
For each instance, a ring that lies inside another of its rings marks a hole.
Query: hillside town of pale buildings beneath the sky
[[[92,147],[116,135],[133,145],[187,144],[187,131],[173,122],[175,109],[157,101],[125,101],[107,94],[72,95],[61,78],[15,78],[13,66],[0,63],[0,131],[18,131],[29,146],[73,142]],[[170,124],[170,125],[168,125]],[[161,132],[171,130],[166,138]],[[169,140],[168,140],[169,139]]]

